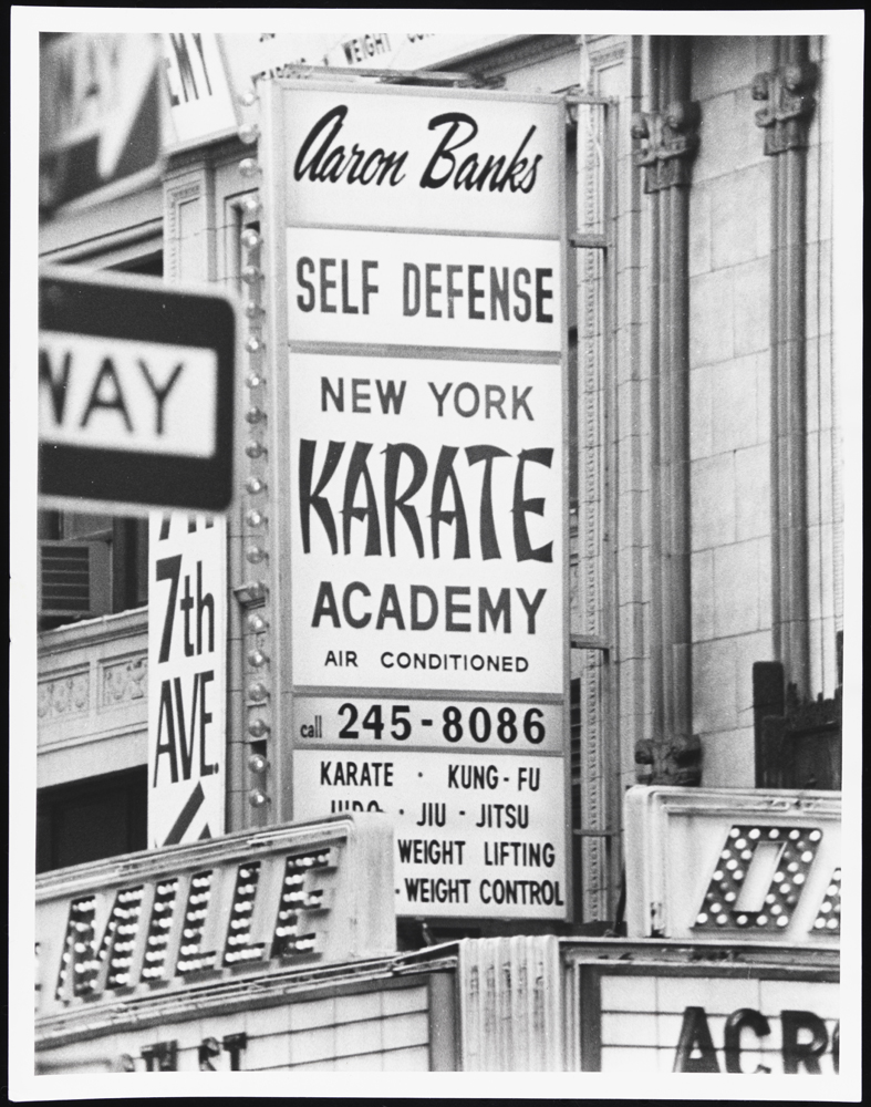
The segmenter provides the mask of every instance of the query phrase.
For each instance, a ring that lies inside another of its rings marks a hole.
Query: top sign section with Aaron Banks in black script
[[[377,96],[377,101],[372,96]],[[556,238],[553,104],[407,89],[299,90],[277,172],[288,223]]]

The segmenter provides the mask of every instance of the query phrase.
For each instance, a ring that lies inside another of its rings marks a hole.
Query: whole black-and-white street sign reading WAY
[[[44,506],[222,511],[232,495],[236,309],[147,278],[40,275]]]

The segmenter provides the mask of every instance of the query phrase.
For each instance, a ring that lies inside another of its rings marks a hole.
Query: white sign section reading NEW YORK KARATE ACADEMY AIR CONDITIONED
[[[294,683],[560,694],[559,365],[291,373]]]

